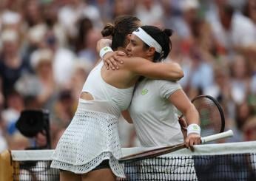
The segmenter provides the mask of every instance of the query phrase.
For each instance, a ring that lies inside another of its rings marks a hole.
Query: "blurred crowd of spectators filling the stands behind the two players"
[[[220,102],[235,132],[226,142],[256,140],[255,0],[1,0],[0,152],[32,144],[15,126],[24,109],[50,111],[55,148],[99,59],[101,30],[121,15],[175,30],[169,59],[183,68],[186,94]],[[137,145],[122,119],[120,130],[122,146]]]

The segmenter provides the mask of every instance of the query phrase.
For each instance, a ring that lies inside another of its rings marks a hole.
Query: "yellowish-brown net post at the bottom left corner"
[[[9,150],[0,154],[0,180],[13,181],[13,166]]]

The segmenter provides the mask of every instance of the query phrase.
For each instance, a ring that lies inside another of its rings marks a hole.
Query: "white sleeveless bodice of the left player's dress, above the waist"
[[[101,67],[103,65],[103,61],[101,61],[92,69],[87,81],[84,83],[82,92],[90,93],[95,100],[110,101],[115,111],[110,113],[117,115],[117,113],[120,114],[121,111],[129,107],[134,86],[127,89],[119,89],[105,82],[101,77]]]

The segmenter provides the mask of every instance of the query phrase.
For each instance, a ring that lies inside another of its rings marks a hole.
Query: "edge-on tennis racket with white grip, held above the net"
[[[233,136],[232,130],[218,133],[218,134],[212,134],[208,137],[201,137],[201,144],[208,143],[208,142],[211,142],[214,140],[223,139],[226,137],[232,137],[232,136]],[[181,148],[186,148],[186,144],[181,143],[181,144],[178,144],[175,146],[164,146],[161,148],[155,148],[155,149],[151,149],[148,151],[142,151],[137,154],[130,154],[126,157],[121,157],[121,159],[119,159],[118,162],[119,163],[132,163],[132,162],[139,161],[139,160],[144,160],[144,159],[148,159],[148,158],[152,158],[152,157],[158,157],[163,154],[168,154],[173,151],[177,151]]]

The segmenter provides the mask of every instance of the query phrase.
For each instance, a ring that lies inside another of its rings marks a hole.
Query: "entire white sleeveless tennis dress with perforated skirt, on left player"
[[[79,100],[73,120],[58,141],[51,167],[84,174],[103,160],[110,160],[110,168],[118,177],[124,176],[118,117],[127,109],[134,86],[118,89],[101,78],[101,61],[88,75],[82,92],[89,92],[94,100]]]

